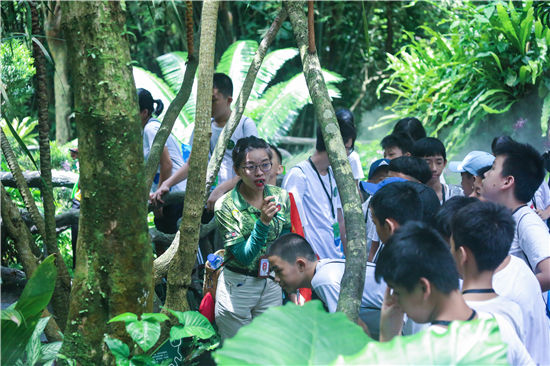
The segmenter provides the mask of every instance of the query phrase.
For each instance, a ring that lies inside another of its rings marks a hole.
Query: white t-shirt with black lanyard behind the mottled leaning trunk
[[[305,160],[289,170],[283,188],[294,196],[306,240],[315,254],[320,259],[343,258],[343,248],[336,245],[333,232],[333,224],[338,222],[337,210],[342,207],[334,173],[329,167],[328,174],[320,177],[321,180]]]

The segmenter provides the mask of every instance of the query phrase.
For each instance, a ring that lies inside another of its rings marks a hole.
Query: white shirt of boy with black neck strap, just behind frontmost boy
[[[466,304],[475,311],[482,311],[489,314],[499,314],[508,322],[518,335],[522,343],[525,344],[525,325],[523,324],[523,315],[518,304],[502,296],[497,296],[485,301],[465,300]]]

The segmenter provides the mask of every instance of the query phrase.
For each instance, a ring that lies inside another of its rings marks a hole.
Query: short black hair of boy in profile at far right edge
[[[495,146],[495,156],[504,156],[502,177],[514,177],[514,197],[529,202],[544,180],[544,161],[534,147],[514,140]]]

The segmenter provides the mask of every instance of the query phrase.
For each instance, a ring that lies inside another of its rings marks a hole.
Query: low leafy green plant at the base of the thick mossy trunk
[[[191,338],[191,351],[185,361],[193,361],[201,353],[218,346],[219,342],[216,331],[203,315],[196,311],[179,312],[169,310],[179,321],[170,329],[170,341],[182,338]],[[132,349],[119,339],[105,335],[105,343],[115,356],[117,365],[156,365],[151,357],[151,349],[159,340],[161,323],[168,320],[168,317],[160,313],[144,313],[141,320],[133,313],[123,313],[109,323],[123,321],[130,338],[135,342],[141,351],[135,346]],[[144,353],[143,353],[144,352]]]

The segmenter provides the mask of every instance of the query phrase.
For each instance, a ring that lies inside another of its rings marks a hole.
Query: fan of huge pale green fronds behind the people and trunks
[[[235,100],[257,49],[256,41],[237,41],[223,53],[216,68],[216,72],[223,72],[231,77]],[[268,53],[258,71],[258,77],[247,102],[244,114],[256,122],[259,135],[270,142],[276,142],[278,137],[286,135],[300,111],[311,103],[303,73],[274,83],[274,78],[282,66],[297,55],[298,50],[295,48],[280,49]],[[154,88],[154,90],[150,90],[153,96],[156,98],[156,95],[160,95],[161,99],[166,98],[166,101],[164,99],[163,101],[167,105],[183,81],[186,59],[186,52],[171,52],[158,57],[157,60],[166,83],[144,70],[140,70],[140,74],[136,76],[136,70],[139,69],[134,68],[136,84],[138,87],[147,84]],[[343,81],[343,78],[326,70],[323,73],[331,97],[339,98],[340,91],[335,84]],[[146,80],[147,77],[150,77],[151,80]],[[166,90],[166,86],[171,89],[171,94]],[[158,94],[155,94],[155,91],[158,91]],[[188,102],[180,113],[180,118],[174,125],[173,132],[181,141],[187,141],[192,131],[195,120],[195,102],[196,82]]]

